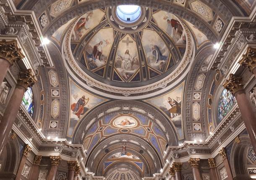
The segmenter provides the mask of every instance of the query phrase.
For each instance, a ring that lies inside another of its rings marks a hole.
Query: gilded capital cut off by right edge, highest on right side
[[[238,63],[253,72],[256,67],[256,49],[248,48],[246,54],[242,56],[242,59]]]

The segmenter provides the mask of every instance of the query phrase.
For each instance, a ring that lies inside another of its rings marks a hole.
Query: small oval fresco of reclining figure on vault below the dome
[[[131,116],[119,116],[113,121],[113,126],[118,128],[133,128],[137,125],[138,122]]]

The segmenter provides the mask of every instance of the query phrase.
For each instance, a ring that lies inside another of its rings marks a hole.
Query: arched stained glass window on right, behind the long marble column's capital
[[[227,89],[224,89],[219,98],[219,105],[218,105],[219,121],[221,121],[227,115],[227,113],[230,111],[230,109],[234,106],[235,103],[236,103],[235,97],[230,93],[230,91],[227,91]]]

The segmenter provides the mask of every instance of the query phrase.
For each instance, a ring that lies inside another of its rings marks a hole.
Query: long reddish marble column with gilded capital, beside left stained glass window
[[[33,86],[35,83],[34,76],[31,74],[31,69],[26,71],[21,71],[18,77],[16,87],[13,91],[13,94],[8,102],[3,118],[0,122],[0,154],[5,147],[8,136],[13,127],[13,123],[18,114],[18,109],[21,106],[21,101],[24,96],[24,93],[28,87]]]

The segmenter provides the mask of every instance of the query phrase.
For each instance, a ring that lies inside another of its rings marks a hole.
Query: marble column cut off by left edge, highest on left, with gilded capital
[[[14,62],[20,61],[25,56],[18,48],[17,41],[0,41],[0,84],[5,79],[6,73]]]

